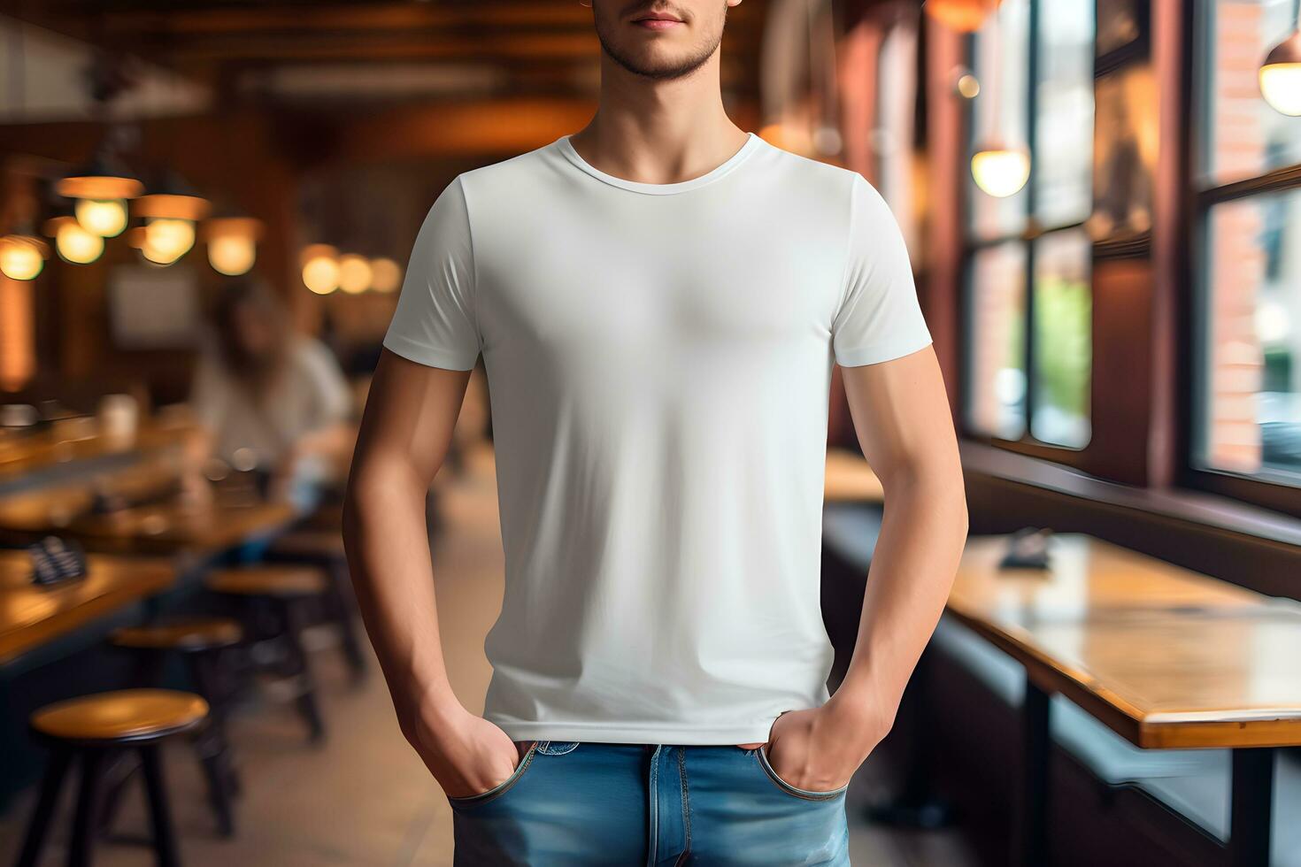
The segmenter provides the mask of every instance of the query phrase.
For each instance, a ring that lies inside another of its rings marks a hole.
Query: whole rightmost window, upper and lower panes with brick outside
[[[1301,117],[1257,88],[1293,0],[1202,0],[1192,468],[1301,486]],[[1261,490],[1261,485],[1255,490]]]

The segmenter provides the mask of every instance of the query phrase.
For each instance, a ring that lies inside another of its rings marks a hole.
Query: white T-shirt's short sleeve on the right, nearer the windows
[[[928,346],[903,233],[881,194],[855,174],[844,295],[831,325],[840,367],[889,361]]]

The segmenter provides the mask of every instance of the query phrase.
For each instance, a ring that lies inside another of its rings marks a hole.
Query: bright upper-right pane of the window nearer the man
[[[1060,226],[1089,216],[1093,166],[1093,0],[1039,5],[1034,216]]]

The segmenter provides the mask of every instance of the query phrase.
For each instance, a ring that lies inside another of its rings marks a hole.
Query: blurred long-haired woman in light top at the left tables
[[[294,331],[258,278],[225,283],[190,391],[200,450],[271,478],[271,493],[311,507],[351,451],[353,395],[317,339]]]

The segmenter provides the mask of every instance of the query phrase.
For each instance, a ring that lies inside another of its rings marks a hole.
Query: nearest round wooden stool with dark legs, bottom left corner
[[[81,759],[82,776],[68,863],[74,867],[90,863],[100,768],[107,754],[124,747],[139,750],[157,863],[164,867],[178,864],[176,832],[172,829],[163,785],[159,742],[198,728],[207,715],[208,703],[200,695],[170,689],[99,693],[47,705],[33,714],[33,734],[51,746],[52,755],[40,784],[36,811],[18,855],[18,867],[34,867],[40,858],[46,832],[59,802],[59,790],[73,759]]]

